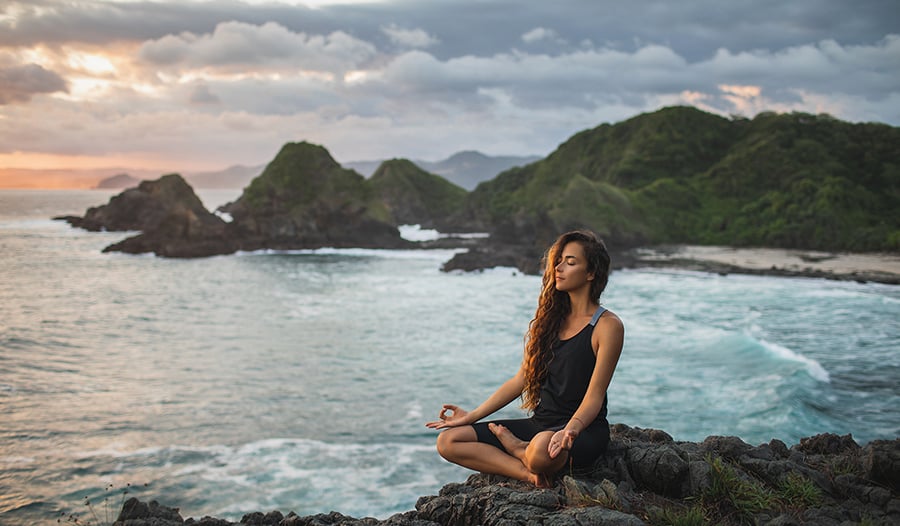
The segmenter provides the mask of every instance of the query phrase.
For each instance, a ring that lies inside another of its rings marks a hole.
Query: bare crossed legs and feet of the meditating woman
[[[490,424],[489,429],[505,451],[478,442],[475,429],[463,426],[447,429],[438,435],[438,453],[454,464],[522,480],[537,487],[549,487],[551,476],[566,464],[568,452],[563,451],[556,458],[550,458],[547,452],[552,431],[540,432],[526,442],[502,425]]]

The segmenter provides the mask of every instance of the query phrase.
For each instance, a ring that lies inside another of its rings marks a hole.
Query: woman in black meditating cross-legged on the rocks
[[[609,254],[593,233],[574,231],[544,257],[538,308],[519,371],[472,411],[445,404],[437,448],[461,466],[547,487],[567,465],[590,468],[609,443],[606,389],[625,330],[601,307]],[[479,422],[522,397],[530,418]]]

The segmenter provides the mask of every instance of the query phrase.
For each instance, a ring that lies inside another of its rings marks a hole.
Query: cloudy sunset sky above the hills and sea
[[[0,0],[0,168],[543,156],[672,105],[900,125],[900,2]]]

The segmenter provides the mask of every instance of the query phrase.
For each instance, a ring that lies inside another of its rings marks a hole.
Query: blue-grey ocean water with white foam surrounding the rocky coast
[[[112,522],[126,496],[386,518],[465,480],[424,423],[515,372],[538,277],[443,273],[449,250],[103,254],[129,234],[50,219],[111,195],[0,191],[0,523],[88,520],[85,497]],[[900,436],[900,287],[623,270],[603,303],[626,327],[612,423]]]

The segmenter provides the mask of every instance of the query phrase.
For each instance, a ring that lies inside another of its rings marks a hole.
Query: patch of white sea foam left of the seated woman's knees
[[[177,454],[183,451],[206,454]],[[217,501],[227,503],[217,513],[226,515],[285,502],[303,502],[307,508],[296,511],[304,513],[340,504],[341,511],[350,515],[387,515],[402,511],[398,507],[409,506],[447,480],[446,474],[437,476],[429,462],[436,456],[430,444],[266,439],[237,447],[173,446],[160,454],[178,458],[181,465],[174,470],[175,477],[215,487],[221,497]]]

